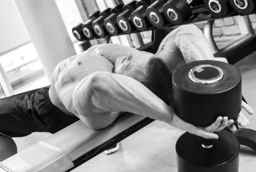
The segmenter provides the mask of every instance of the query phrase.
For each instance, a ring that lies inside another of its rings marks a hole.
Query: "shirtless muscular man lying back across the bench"
[[[227,126],[235,131],[234,121],[227,117],[218,117],[211,126],[201,128],[173,112],[172,72],[195,60],[214,57],[201,30],[188,25],[168,34],[155,56],[104,44],[61,61],[50,86],[0,100],[0,132],[9,136],[0,137],[0,161],[17,153],[10,137],[55,133],[79,119],[92,129],[102,129],[113,123],[119,112],[164,121],[204,138],[217,139],[212,132]],[[242,107],[253,114],[246,103]],[[242,112],[236,122],[243,127],[249,123]]]

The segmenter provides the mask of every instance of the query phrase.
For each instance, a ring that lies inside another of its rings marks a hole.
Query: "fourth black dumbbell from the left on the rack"
[[[123,10],[124,4],[119,4],[115,8],[111,9],[111,14],[104,20],[105,29],[109,34],[112,36],[118,35],[121,33],[121,29],[119,29],[116,23],[116,17],[120,14]]]

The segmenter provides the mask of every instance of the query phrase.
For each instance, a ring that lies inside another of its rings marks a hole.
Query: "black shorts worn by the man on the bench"
[[[61,112],[49,99],[50,86],[0,99],[0,133],[23,137],[55,132],[79,120]]]

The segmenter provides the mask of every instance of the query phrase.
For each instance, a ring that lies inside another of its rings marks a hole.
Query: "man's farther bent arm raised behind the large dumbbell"
[[[195,25],[180,26],[170,32],[155,55],[163,58],[172,71],[184,63],[214,60],[203,32]]]

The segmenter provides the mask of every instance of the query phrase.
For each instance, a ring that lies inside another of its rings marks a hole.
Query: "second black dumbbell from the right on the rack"
[[[204,0],[204,5],[209,13],[216,18],[226,17],[233,11],[228,0]]]

